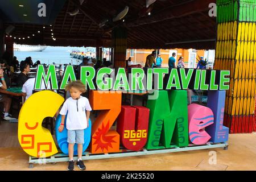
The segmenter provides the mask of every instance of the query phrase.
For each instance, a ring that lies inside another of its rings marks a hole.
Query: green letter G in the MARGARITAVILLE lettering
[[[112,89],[113,80],[112,78],[105,77],[105,82],[103,81],[104,75],[110,75],[113,72],[113,69],[110,68],[101,68],[97,73],[97,86],[100,90],[110,90]]]

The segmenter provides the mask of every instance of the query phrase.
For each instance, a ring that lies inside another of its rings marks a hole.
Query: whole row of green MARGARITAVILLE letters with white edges
[[[144,90],[145,88],[151,90],[152,81],[155,81],[155,90],[183,90],[188,88],[195,90],[229,90],[229,75],[230,71],[188,68],[131,68],[128,73],[125,68],[119,68],[118,70],[101,68],[96,73],[93,67],[81,67],[80,76],[86,87],[92,90],[96,88],[98,90]],[[96,84],[93,81],[94,79],[96,79]],[[39,65],[35,89],[40,89],[42,81],[46,84],[51,83],[52,89],[64,89],[69,80],[76,80],[72,65],[68,65],[65,69],[60,88],[57,85],[55,65],[49,65],[47,73],[44,72],[43,65]]]

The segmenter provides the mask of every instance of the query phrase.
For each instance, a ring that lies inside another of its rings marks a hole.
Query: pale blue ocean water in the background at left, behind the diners
[[[72,64],[77,65],[82,62],[82,60],[77,60],[70,57],[70,52],[81,51],[85,52],[85,47],[53,47],[48,46],[42,52],[25,52],[25,51],[14,51],[14,56],[17,57],[18,61],[23,61],[26,57],[32,57],[33,63],[40,60],[42,64]],[[93,48],[91,48],[93,50]]]

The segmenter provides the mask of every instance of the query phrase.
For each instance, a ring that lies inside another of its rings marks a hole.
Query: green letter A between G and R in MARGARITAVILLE
[[[121,84],[121,80],[123,84]],[[120,87],[124,87],[125,90],[130,90],[128,80],[126,77],[125,68],[119,68],[117,72],[117,77],[115,78],[115,84],[113,90],[118,90]]]

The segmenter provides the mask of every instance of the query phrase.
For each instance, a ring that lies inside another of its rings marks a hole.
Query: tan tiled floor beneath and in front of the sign
[[[20,148],[17,123],[0,125],[0,170],[66,170],[67,163],[35,164],[28,168],[28,155]],[[256,133],[232,134],[229,148],[126,158],[98,159],[85,162],[87,170],[256,170]],[[217,163],[209,164],[213,151]],[[11,161],[11,163],[10,163]],[[79,170],[76,168],[76,170]]]

